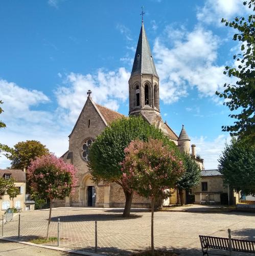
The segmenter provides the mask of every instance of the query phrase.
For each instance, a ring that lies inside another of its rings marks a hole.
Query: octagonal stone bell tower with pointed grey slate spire
[[[129,84],[129,115],[144,116],[150,123],[161,120],[159,112],[159,77],[154,65],[144,24],[134,56]]]

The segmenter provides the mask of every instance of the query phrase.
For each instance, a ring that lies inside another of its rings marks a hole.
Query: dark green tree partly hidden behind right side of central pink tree
[[[182,158],[185,172],[177,181],[176,187],[178,188],[180,204],[184,205],[183,190],[189,190],[199,184],[201,181],[201,169],[190,154],[184,153]]]

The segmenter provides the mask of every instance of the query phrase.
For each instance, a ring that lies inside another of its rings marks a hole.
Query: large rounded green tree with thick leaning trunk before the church
[[[180,154],[176,145],[154,125],[141,116],[123,117],[112,122],[92,143],[89,151],[89,170],[96,182],[115,182],[122,186],[125,194],[123,217],[130,216],[133,191],[123,186],[121,162],[125,158],[124,149],[132,140],[148,141],[149,138],[161,139],[175,152]]]

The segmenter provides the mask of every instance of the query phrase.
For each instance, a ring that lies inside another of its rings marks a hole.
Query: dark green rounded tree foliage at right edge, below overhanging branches
[[[219,161],[225,184],[245,195],[255,195],[255,147],[233,138]]]

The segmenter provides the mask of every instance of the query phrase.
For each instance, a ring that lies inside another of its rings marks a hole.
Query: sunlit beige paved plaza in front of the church
[[[20,240],[45,237],[48,216],[49,210],[21,212]],[[59,218],[60,247],[93,252],[95,221],[98,221],[98,253],[125,255],[148,248],[151,213],[135,210],[131,218],[121,216],[118,209],[56,208],[52,211],[50,236],[57,236]],[[255,214],[157,211],[154,217],[155,247],[175,249],[183,255],[201,255],[199,234],[227,237],[228,228],[233,238],[255,240]],[[4,236],[17,239],[17,234],[18,216],[15,216],[13,221],[4,225]]]

